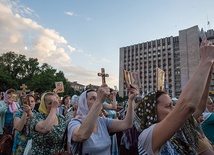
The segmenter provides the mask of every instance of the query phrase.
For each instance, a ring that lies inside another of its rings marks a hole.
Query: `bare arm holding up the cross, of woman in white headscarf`
[[[109,88],[106,84],[102,85],[97,92],[97,99],[95,103],[93,103],[89,113],[85,117],[82,124],[76,127],[72,134],[73,141],[85,141],[87,140],[91,134],[93,133],[96,125],[97,119],[102,110],[102,104],[105,100],[106,95],[110,93]]]

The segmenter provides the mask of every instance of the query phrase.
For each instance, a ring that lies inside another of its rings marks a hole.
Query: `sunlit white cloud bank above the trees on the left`
[[[65,73],[70,81],[84,85],[101,84],[97,72],[87,70],[71,63],[71,53],[82,53],[81,49],[68,44],[68,41],[54,29],[46,28],[25,15],[34,13],[30,8],[19,6],[8,0],[0,1],[0,54],[13,51],[27,57],[38,58],[40,63],[48,63]],[[110,62],[102,58],[93,58],[93,62]],[[115,85],[115,79],[107,79]]]

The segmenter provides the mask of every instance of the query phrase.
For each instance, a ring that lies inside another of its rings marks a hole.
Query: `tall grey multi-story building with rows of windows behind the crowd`
[[[214,32],[205,32],[214,43]],[[194,26],[179,31],[179,36],[170,36],[120,48],[119,95],[127,96],[123,70],[138,72],[141,93],[156,89],[156,68],[165,71],[166,90],[178,97],[193,75],[199,60],[201,31]],[[211,82],[214,91],[214,80]]]

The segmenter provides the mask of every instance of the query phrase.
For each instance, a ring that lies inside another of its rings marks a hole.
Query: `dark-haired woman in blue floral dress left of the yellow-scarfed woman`
[[[22,100],[23,96],[21,97]],[[30,140],[30,123],[33,116],[35,99],[33,95],[26,96],[28,104],[22,103],[22,109],[14,113],[14,129],[15,138],[13,142],[13,155],[22,155],[24,153],[25,147],[28,140]]]

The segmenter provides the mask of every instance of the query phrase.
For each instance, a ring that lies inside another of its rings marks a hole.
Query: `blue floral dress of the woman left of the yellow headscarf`
[[[36,111],[32,111],[32,112],[34,114],[36,113]],[[24,113],[23,111],[17,111],[14,113],[13,117],[21,118],[23,113]],[[25,147],[27,145],[27,141],[31,139],[29,134],[30,122],[31,122],[31,119],[27,119],[27,122],[23,127],[22,131],[15,132],[12,155],[22,155],[24,153]]]

